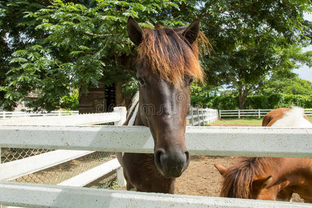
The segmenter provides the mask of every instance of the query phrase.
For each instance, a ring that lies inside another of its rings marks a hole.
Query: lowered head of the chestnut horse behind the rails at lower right
[[[269,187],[272,176],[268,175],[273,160],[266,157],[241,157],[230,168],[215,164],[224,179],[220,196],[276,200],[279,190],[277,187]]]

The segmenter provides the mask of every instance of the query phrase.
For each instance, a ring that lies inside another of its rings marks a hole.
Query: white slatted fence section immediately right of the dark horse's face
[[[211,108],[190,107],[187,125],[205,125],[218,120],[218,110]]]

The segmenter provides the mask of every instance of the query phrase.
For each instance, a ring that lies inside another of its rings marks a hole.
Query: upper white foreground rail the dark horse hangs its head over
[[[187,127],[193,155],[312,157],[312,128]],[[0,126],[0,147],[153,153],[142,126]],[[12,139],[15,138],[15,139]]]

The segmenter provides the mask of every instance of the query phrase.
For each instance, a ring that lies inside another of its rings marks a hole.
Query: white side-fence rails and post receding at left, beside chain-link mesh
[[[80,114],[80,115],[71,115],[71,116],[50,116],[49,118],[40,116],[40,117],[15,117],[11,119],[0,119],[0,125],[6,126],[21,126],[25,128],[26,125],[46,125],[46,126],[66,126],[66,125],[94,125],[98,123],[110,123],[114,122],[115,125],[122,125],[125,121],[126,110],[125,107],[115,107],[114,112],[112,113],[103,113],[103,114]],[[53,148],[55,149],[55,148]],[[1,147],[0,147],[1,153]],[[78,157],[83,157],[94,153],[94,151],[85,151],[85,150],[53,150],[48,153],[42,153],[40,155],[34,155],[31,157],[26,157],[24,159],[17,159],[12,162],[6,162],[1,164],[0,161],[0,180],[15,180],[18,177],[35,173],[37,171],[42,171],[45,168],[51,166],[56,166],[64,162],[68,162],[71,159],[76,159]],[[60,185],[70,185],[73,187],[83,187],[90,182],[120,168],[120,164],[117,159],[112,159],[109,162],[96,166],[95,168],[80,173],[75,177],[70,178],[64,182],[61,182]],[[121,171],[118,171],[121,172]],[[118,174],[118,177],[121,177],[121,174]],[[122,181],[122,178],[119,178]]]

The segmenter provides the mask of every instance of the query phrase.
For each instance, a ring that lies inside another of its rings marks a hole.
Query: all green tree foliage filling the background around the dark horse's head
[[[272,71],[311,65],[311,53],[300,51],[312,37],[303,12],[311,12],[308,1],[3,0],[0,105],[26,101],[35,110],[53,110],[71,88],[86,92],[99,82],[122,83],[125,93],[133,92],[136,49],[125,28],[132,15],[149,28],[200,17],[213,50],[202,55],[207,83],[199,87],[211,91],[227,84],[242,108]]]

